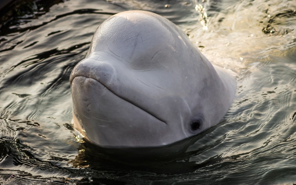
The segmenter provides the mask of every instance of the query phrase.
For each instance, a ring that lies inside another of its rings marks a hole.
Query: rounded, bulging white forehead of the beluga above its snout
[[[110,17],[94,33],[89,54],[110,53],[136,70],[167,67],[173,62],[171,58],[175,58],[169,56],[176,55],[178,45],[185,42],[176,26],[163,17],[149,14],[129,11]]]

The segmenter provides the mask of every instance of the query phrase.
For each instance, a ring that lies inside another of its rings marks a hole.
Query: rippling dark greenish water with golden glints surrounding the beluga
[[[181,155],[133,163],[74,136],[70,72],[98,25],[130,9],[168,18],[210,61],[237,73],[225,118]],[[0,28],[0,184],[296,183],[295,10],[295,0],[20,5]]]

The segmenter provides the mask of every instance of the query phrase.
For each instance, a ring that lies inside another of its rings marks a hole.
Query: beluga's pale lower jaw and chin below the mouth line
[[[155,147],[170,144],[165,139],[160,143],[162,139],[160,136],[165,138],[170,130],[165,122],[117,96],[99,81],[77,76],[73,78],[71,94],[72,122],[74,128],[86,140],[111,148]],[[127,124],[130,125],[128,129],[126,129]],[[151,135],[157,137],[153,139]],[[135,140],[138,141],[136,145]]]

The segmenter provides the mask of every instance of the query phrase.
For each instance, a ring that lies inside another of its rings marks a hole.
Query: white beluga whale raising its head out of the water
[[[162,147],[219,123],[236,80],[173,22],[126,11],[102,22],[70,75],[72,123],[99,147]]]

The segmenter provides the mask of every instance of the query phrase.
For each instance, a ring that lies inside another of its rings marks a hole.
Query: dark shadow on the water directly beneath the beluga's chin
[[[165,147],[143,148],[102,148],[83,141],[79,147],[79,153],[70,163],[75,168],[91,168],[94,170],[111,171],[146,171],[157,174],[182,174],[190,173],[200,166],[208,163],[197,164],[190,161],[190,157],[202,153],[213,147],[206,143],[200,148],[189,149],[192,144],[205,136],[185,139]],[[180,168],[182,166],[182,168]]]

